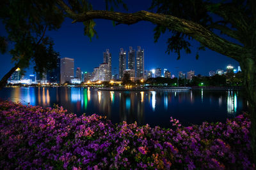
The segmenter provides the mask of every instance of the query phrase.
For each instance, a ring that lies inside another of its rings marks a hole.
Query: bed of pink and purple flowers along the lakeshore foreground
[[[250,120],[175,130],[0,102],[0,169],[253,169]]]

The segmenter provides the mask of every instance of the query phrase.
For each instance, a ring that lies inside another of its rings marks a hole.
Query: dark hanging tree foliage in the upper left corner
[[[9,48],[12,61],[20,68],[28,67],[30,61],[35,62],[36,71],[54,67],[56,52],[45,32],[60,28],[64,18],[54,1],[2,0],[0,18],[8,34],[0,38],[2,53]]]

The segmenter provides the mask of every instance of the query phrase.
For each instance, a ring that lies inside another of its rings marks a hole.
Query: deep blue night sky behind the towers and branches
[[[129,11],[147,10],[151,1],[124,1],[127,3]],[[93,8],[95,10],[104,10],[104,1],[93,1]],[[121,10],[122,11],[122,10]],[[128,51],[129,46],[137,50],[137,46],[141,46],[145,50],[145,69],[154,69],[161,67],[177,75],[177,71],[195,70],[195,74],[202,74],[209,76],[209,71],[216,69],[225,69],[228,64],[232,64],[237,69],[239,63],[236,60],[230,59],[219,53],[213,52],[209,49],[200,52],[198,60],[195,59],[196,48],[198,42],[193,41],[191,45],[192,53],[181,53],[180,60],[177,60],[176,53],[168,55],[166,51],[166,40],[168,39],[168,32],[163,34],[157,43],[154,43],[155,25],[150,22],[139,22],[134,25],[116,25],[110,20],[97,19],[96,31],[99,38],[93,38],[92,41],[87,36],[84,36],[82,23],[71,24],[72,20],[65,19],[63,25],[58,31],[47,32],[48,36],[54,40],[54,50],[60,52],[61,58],[70,57],[75,60],[76,67],[81,67],[82,71],[93,71],[93,67],[98,67],[103,62],[103,52],[109,48],[112,53],[112,68],[113,74],[118,73],[118,54],[120,48]],[[4,26],[1,23],[0,33],[5,34]],[[4,76],[13,66],[10,54],[1,55],[0,63],[0,77]],[[116,69],[115,69],[116,67]],[[26,78],[33,73],[33,65],[26,71]],[[163,74],[163,73],[162,73]]]

